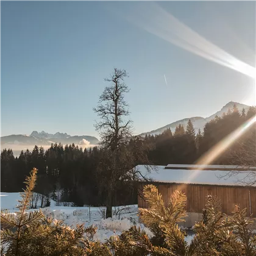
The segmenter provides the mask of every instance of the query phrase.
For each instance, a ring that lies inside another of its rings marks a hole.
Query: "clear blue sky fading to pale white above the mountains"
[[[113,68],[129,73],[135,133],[229,101],[255,105],[244,72],[255,67],[255,10],[255,1],[1,1],[1,136],[98,137],[93,107]]]

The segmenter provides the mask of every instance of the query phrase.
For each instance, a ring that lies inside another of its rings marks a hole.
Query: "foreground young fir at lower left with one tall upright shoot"
[[[76,229],[65,226],[62,221],[47,218],[39,211],[27,212],[35,187],[37,169],[30,172],[26,179],[26,189],[21,193],[18,210],[15,215],[7,211],[0,212],[0,248],[1,255],[85,255],[90,244],[84,234],[95,233],[93,226]]]

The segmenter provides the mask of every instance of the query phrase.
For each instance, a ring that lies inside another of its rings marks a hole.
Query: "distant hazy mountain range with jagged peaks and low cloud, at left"
[[[1,137],[2,148],[12,148],[12,146],[51,146],[51,143],[62,143],[62,144],[76,144],[80,146],[90,146],[99,143],[98,138],[92,136],[71,136],[67,133],[57,132],[55,134],[47,132],[33,131],[30,135],[9,135]]]

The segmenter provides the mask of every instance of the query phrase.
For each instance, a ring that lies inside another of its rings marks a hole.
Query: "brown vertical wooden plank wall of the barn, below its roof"
[[[177,183],[153,183],[162,194],[163,201],[169,201],[171,194],[175,190],[183,191],[187,196],[187,212],[202,213],[205,207],[207,194],[218,197],[222,204],[222,212],[231,215],[235,211],[235,205],[241,209],[247,208],[250,215],[249,191],[251,194],[251,211],[256,217],[256,188],[254,187],[225,187],[217,185],[196,185]],[[142,190],[145,183],[140,183],[138,190]],[[140,194],[140,193],[139,193]],[[138,195],[138,207],[148,208],[144,198]]]

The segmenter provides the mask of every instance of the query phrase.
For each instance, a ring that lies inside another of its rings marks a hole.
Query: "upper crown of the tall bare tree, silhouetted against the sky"
[[[95,125],[101,135],[101,143],[112,151],[127,144],[132,135],[132,121],[127,119],[129,110],[124,100],[124,94],[129,92],[129,88],[124,83],[126,77],[128,74],[125,70],[115,68],[110,78],[105,79],[111,85],[105,87],[98,106],[93,109],[101,118],[101,121]]]

